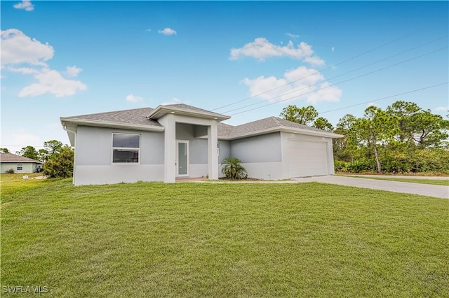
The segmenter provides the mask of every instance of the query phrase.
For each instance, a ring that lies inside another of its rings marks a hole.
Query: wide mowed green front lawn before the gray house
[[[319,183],[71,183],[2,204],[2,286],[47,286],[46,297],[449,296],[446,199]]]

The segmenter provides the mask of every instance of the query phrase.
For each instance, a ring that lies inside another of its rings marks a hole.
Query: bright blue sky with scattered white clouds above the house
[[[0,5],[0,147],[12,152],[68,143],[60,117],[159,104],[231,115],[230,125],[289,104],[333,125],[397,100],[448,113],[448,1]]]

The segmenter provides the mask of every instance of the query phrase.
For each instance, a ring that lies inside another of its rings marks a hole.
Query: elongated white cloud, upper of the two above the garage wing
[[[311,45],[300,42],[297,47],[293,41],[288,41],[287,45],[274,45],[267,38],[255,38],[251,43],[246,43],[241,48],[232,48],[230,60],[239,59],[239,57],[253,57],[263,61],[267,57],[290,57],[294,59],[302,59],[304,62],[313,65],[323,65],[324,60],[314,54]]]

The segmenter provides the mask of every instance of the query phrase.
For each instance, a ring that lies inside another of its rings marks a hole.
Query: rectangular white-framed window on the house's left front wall
[[[112,134],[112,163],[139,162],[140,134]]]

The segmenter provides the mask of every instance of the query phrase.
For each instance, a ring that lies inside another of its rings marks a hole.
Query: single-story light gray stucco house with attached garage
[[[229,156],[251,178],[334,174],[339,134],[275,117],[220,123],[229,118],[185,104],[61,118],[75,148],[74,184],[217,179]]]

